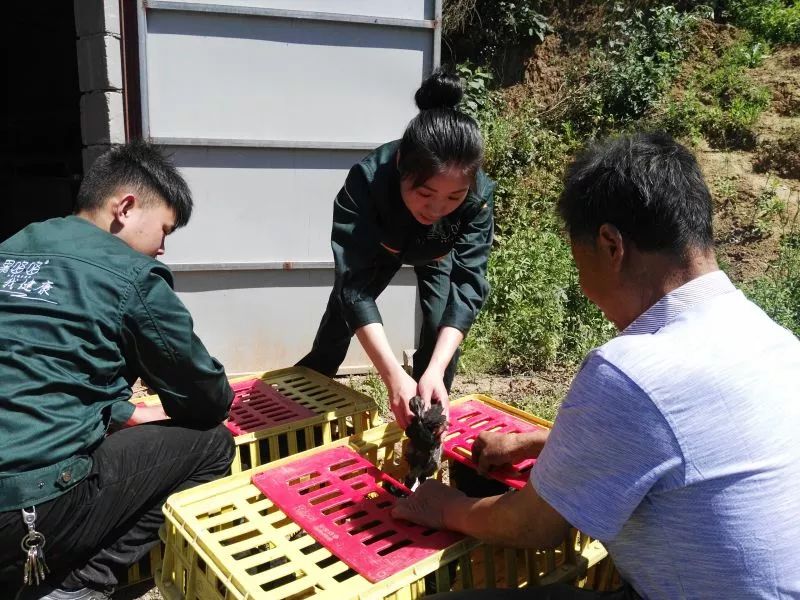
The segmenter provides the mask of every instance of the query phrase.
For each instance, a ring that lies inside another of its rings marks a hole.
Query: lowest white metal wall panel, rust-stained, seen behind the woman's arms
[[[198,335],[229,372],[240,373],[294,364],[308,352],[333,284],[330,269],[176,276]],[[412,343],[415,297],[414,272],[403,269],[378,299],[386,333],[395,343]],[[354,339],[343,372],[363,371],[366,364]]]

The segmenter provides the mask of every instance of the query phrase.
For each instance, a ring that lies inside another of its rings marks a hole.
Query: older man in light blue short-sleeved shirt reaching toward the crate
[[[559,211],[621,334],[587,356],[549,436],[476,442],[482,469],[538,454],[528,486],[473,499],[430,483],[396,515],[529,547],[571,524],[628,582],[503,598],[800,598],[800,341],[719,271],[694,157],[658,135],[593,147]]]

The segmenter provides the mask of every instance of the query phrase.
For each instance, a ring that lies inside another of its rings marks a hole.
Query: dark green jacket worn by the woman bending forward
[[[350,169],[333,209],[335,292],[350,330],[381,322],[375,299],[403,264],[449,257],[450,289],[439,327],[464,334],[489,293],[495,184],[483,171],[464,202],[433,225],[419,223],[400,196],[399,141],[376,149]],[[451,254],[452,251],[452,254]]]

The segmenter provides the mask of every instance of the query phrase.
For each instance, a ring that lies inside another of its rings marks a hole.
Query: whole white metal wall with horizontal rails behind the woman
[[[333,198],[347,170],[398,138],[438,63],[437,0],[140,0],[144,133],[195,199],[164,260],[198,334],[229,372],[290,365],[333,282]],[[413,348],[414,273],[379,300]],[[367,359],[354,341],[343,370]]]

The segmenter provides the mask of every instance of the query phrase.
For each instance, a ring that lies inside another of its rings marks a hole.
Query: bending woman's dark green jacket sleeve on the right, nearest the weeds
[[[455,327],[466,335],[478,316],[489,295],[486,268],[493,232],[493,201],[489,194],[484,205],[462,226],[456,238],[450,294],[439,327]]]

